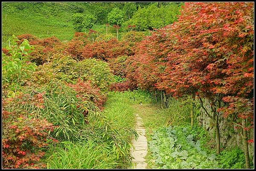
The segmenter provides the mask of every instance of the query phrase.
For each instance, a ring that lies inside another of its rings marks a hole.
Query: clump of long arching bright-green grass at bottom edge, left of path
[[[86,168],[115,168],[116,157],[104,146],[93,143],[62,142],[64,147],[52,147],[48,158],[47,168],[50,169],[86,169]],[[48,154],[49,155],[49,154]]]

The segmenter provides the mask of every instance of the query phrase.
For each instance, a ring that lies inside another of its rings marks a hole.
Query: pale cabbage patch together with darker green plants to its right
[[[169,126],[154,132],[149,149],[153,168],[244,168],[243,151],[237,147],[216,155],[205,148],[207,132],[201,127]]]

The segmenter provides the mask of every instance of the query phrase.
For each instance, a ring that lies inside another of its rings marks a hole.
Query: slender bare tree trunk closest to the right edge
[[[247,137],[247,130],[244,130],[246,127],[246,120],[242,120],[242,137],[243,137],[243,147],[244,147],[244,157],[245,157],[245,167],[250,168],[250,157],[249,157],[249,147],[248,147],[248,137]]]

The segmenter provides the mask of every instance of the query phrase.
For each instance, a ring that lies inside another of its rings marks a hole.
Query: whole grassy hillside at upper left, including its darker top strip
[[[76,8],[86,9],[84,3],[2,3],[2,43],[7,45],[9,36],[33,34],[39,38],[56,36],[61,40],[72,39],[71,16]],[[84,14],[89,13],[84,10]]]

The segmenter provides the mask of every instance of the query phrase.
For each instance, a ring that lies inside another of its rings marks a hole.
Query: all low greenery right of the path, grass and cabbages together
[[[191,126],[185,119],[192,109],[186,99],[172,99],[168,109],[161,109],[160,104],[135,106],[146,128],[147,168],[244,168],[244,153],[239,147],[216,155],[207,130],[198,123]],[[197,105],[194,112],[199,112]]]

